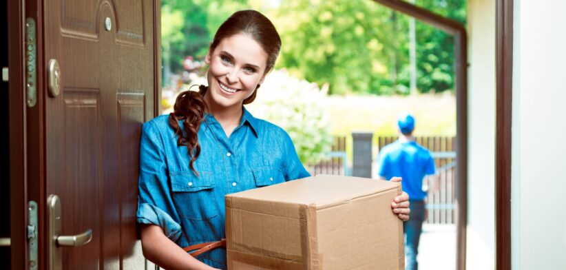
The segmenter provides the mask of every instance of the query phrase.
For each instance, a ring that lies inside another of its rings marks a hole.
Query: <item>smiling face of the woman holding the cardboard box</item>
[[[222,39],[205,59],[209,64],[209,107],[241,107],[263,82],[267,57],[260,44],[247,34]]]

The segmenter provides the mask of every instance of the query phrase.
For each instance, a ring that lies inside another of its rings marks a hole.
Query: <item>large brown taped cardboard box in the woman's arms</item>
[[[405,269],[401,185],[319,175],[226,198],[228,268]]]

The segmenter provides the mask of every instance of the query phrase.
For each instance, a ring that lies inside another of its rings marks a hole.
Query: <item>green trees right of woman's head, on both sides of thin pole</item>
[[[417,5],[465,21],[463,0],[420,0]],[[282,35],[279,62],[333,94],[409,94],[408,17],[373,1],[283,1],[270,14]],[[450,35],[417,24],[417,87],[452,90]]]

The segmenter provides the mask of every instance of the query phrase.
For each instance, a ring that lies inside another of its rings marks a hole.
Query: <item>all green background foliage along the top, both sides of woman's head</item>
[[[202,59],[220,23],[236,10],[266,14],[282,37],[277,68],[330,94],[409,94],[408,17],[370,0],[163,0],[165,75],[182,59]],[[464,0],[416,0],[417,6],[465,22]],[[417,88],[443,92],[454,85],[450,35],[417,22]],[[168,81],[167,76],[165,82]]]

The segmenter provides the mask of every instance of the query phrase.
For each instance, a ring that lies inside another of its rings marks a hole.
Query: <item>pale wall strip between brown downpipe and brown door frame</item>
[[[467,269],[494,269],[495,1],[468,1]]]

